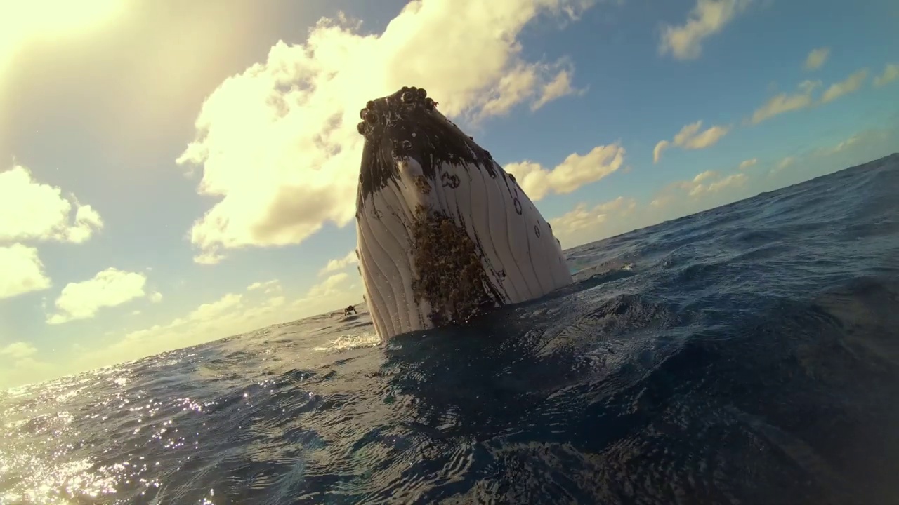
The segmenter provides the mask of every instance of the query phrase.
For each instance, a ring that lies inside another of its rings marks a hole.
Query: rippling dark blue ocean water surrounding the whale
[[[0,397],[3,503],[899,503],[899,155],[569,251],[379,346],[320,315]]]

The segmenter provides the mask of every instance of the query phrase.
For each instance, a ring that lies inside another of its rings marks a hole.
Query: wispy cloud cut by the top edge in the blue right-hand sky
[[[677,59],[699,58],[702,42],[724,30],[727,23],[745,10],[751,0],[697,0],[681,26],[665,26],[659,53]]]

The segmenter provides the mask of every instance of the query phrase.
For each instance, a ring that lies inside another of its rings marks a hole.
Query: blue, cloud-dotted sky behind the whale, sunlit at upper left
[[[899,151],[894,0],[0,0],[0,387],[359,303],[403,85],[565,248]]]

